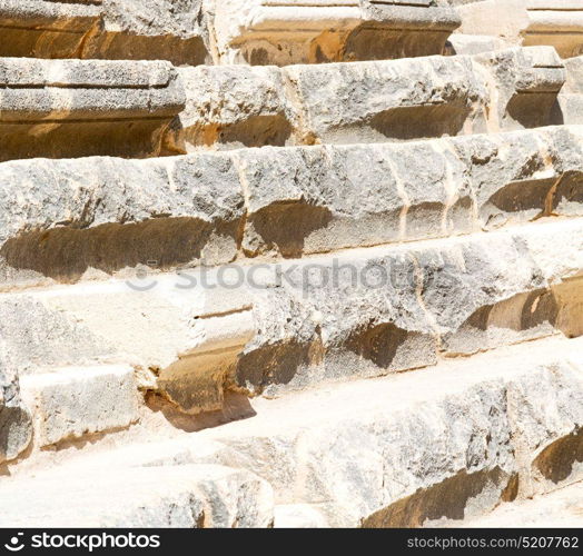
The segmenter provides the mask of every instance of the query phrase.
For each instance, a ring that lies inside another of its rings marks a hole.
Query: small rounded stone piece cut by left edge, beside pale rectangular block
[[[20,398],[18,374],[0,338],[0,464],[18,457],[31,437],[31,418]]]

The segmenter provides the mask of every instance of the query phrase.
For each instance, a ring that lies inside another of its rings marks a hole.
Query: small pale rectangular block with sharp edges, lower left
[[[138,419],[131,367],[58,369],[23,377],[21,388],[33,415],[37,447],[128,427]]]

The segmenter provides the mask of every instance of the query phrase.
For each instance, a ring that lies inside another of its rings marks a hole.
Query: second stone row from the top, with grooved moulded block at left
[[[579,83],[572,68],[570,80]],[[3,58],[0,161],[368,143],[570,123],[579,118],[569,107],[561,111],[565,79],[547,47],[285,69]],[[569,98],[580,97],[570,86]]]

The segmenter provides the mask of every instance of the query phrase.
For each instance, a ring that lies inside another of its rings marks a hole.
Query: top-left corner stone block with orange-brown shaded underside
[[[198,64],[208,49],[200,0],[0,0],[0,56]]]

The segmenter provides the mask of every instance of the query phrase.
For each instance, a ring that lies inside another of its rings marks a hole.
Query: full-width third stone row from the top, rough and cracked
[[[582,216],[582,158],[583,128],[553,127],[403,145],[6,162],[0,289]]]

